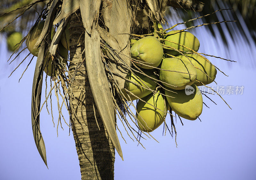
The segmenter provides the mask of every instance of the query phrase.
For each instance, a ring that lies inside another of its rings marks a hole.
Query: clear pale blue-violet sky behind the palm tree
[[[243,40],[235,44],[230,41],[230,49],[214,40],[204,28],[196,34],[200,41],[200,52],[232,58],[239,63],[227,63],[221,59],[209,58],[229,77],[220,72],[216,81],[220,86],[244,86],[242,95],[223,95],[232,110],[220,99],[212,95],[217,106],[204,97],[210,109],[203,107],[199,120],[183,119],[182,126],[177,120],[177,143],[170,134],[162,136],[163,125],[151,134],[153,139],[141,140],[146,148],[137,146],[125,131],[124,143],[120,134],[124,161],[116,153],[115,179],[191,179],[191,180],[253,180],[256,177],[256,121],[254,79],[255,47],[247,46]],[[44,108],[40,114],[41,130],[46,146],[46,168],[37,152],[31,128],[31,89],[36,59],[20,78],[29,59],[9,79],[12,69],[6,60],[5,44],[1,41],[0,60],[0,179],[2,180],[44,180],[81,179],[78,157],[73,135],[68,136],[68,127],[63,122],[64,131],[56,132],[58,113],[54,114],[55,127],[51,115]],[[25,56],[25,55],[23,55]],[[212,84],[215,86],[214,84]],[[43,101],[44,101],[44,95]],[[54,98],[53,98],[54,99]],[[53,102],[56,112],[56,101]],[[67,113],[65,116],[68,119]],[[170,125],[170,117],[167,123]],[[122,127],[120,121],[119,127]],[[122,129],[122,128],[121,128]]]

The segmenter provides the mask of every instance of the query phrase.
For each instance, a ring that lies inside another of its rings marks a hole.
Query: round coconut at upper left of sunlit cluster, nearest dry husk
[[[131,56],[142,63],[135,64],[144,69],[153,69],[154,67],[157,67],[162,61],[163,54],[164,51],[160,41],[153,36],[141,38],[136,41],[131,48]],[[143,64],[153,67],[148,67]]]

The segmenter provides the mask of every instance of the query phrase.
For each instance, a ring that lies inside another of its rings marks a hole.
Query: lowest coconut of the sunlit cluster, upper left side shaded
[[[165,101],[166,106],[164,106],[164,97],[162,94],[159,94],[159,91],[157,92],[158,93],[156,94],[152,93],[142,98],[143,101],[146,101],[154,107],[147,104],[146,102],[140,100],[138,101],[137,111],[139,115],[136,117],[139,121],[138,125],[141,131],[154,131],[164,122],[164,118],[167,113],[163,111],[167,111],[167,107],[169,107],[169,105],[168,102]]]

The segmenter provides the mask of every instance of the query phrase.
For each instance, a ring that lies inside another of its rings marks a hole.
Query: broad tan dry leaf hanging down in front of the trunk
[[[94,101],[108,135],[123,160],[122,149],[116,134],[115,111],[105,67],[101,60],[100,35],[92,26],[91,35],[85,32],[85,62]]]

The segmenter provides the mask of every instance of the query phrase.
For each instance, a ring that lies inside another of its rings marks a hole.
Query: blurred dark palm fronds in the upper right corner
[[[226,11],[220,11],[219,13],[213,14],[202,18],[201,23],[210,23],[222,20],[238,20],[236,23],[225,24],[221,26],[217,24],[218,31],[213,29],[212,26],[207,26],[214,37],[221,36],[224,44],[227,45],[227,36],[224,33],[224,29],[227,28],[230,37],[235,41],[238,35],[249,43],[250,36],[256,43],[256,24],[254,19],[256,18],[256,0],[202,0],[205,5],[204,9],[196,13],[193,10],[177,9],[180,18],[184,21],[195,18],[197,16],[205,15],[216,11],[218,9],[232,9]],[[244,23],[245,22],[245,23]],[[191,21],[187,26],[193,26],[194,22]],[[245,29],[248,28],[249,33],[246,33]]]

